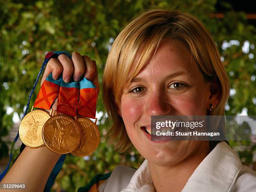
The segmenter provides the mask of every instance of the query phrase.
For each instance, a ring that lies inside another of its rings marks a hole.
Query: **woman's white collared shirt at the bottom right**
[[[98,191],[153,192],[148,161],[137,170],[117,166]],[[182,192],[256,192],[256,172],[243,166],[235,151],[222,141],[197,166]]]

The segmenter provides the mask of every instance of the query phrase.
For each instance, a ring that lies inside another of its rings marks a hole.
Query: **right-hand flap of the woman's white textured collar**
[[[216,145],[189,177],[182,192],[229,191],[242,163],[225,141]]]

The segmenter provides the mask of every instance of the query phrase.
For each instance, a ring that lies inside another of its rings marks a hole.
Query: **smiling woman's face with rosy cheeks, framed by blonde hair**
[[[177,164],[197,151],[202,141],[154,142],[142,127],[151,127],[151,115],[206,115],[209,87],[182,42],[161,41],[154,57],[125,84],[119,107],[128,136],[145,159]]]

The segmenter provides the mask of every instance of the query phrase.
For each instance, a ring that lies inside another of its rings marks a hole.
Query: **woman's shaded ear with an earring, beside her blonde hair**
[[[220,82],[217,78],[214,77],[212,82],[210,82],[210,94],[208,97],[208,102],[207,102],[207,109],[210,110],[210,105],[212,104],[213,108],[216,107],[218,102],[220,101],[221,97],[221,87],[220,87]]]

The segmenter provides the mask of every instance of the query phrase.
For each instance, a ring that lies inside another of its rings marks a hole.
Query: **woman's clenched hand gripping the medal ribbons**
[[[100,86],[98,82],[98,71],[96,61],[91,60],[88,56],[81,56],[78,52],[71,54],[72,60],[67,54],[60,54],[57,59],[51,58],[44,70],[43,77],[41,79],[41,85],[43,84],[46,77],[52,73],[54,80],[59,78],[62,73],[64,82],[69,83],[71,79],[79,81],[82,77],[90,80],[97,88],[97,96],[100,92]],[[57,100],[57,99],[56,99]],[[54,101],[52,109],[56,110],[57,102]]]

